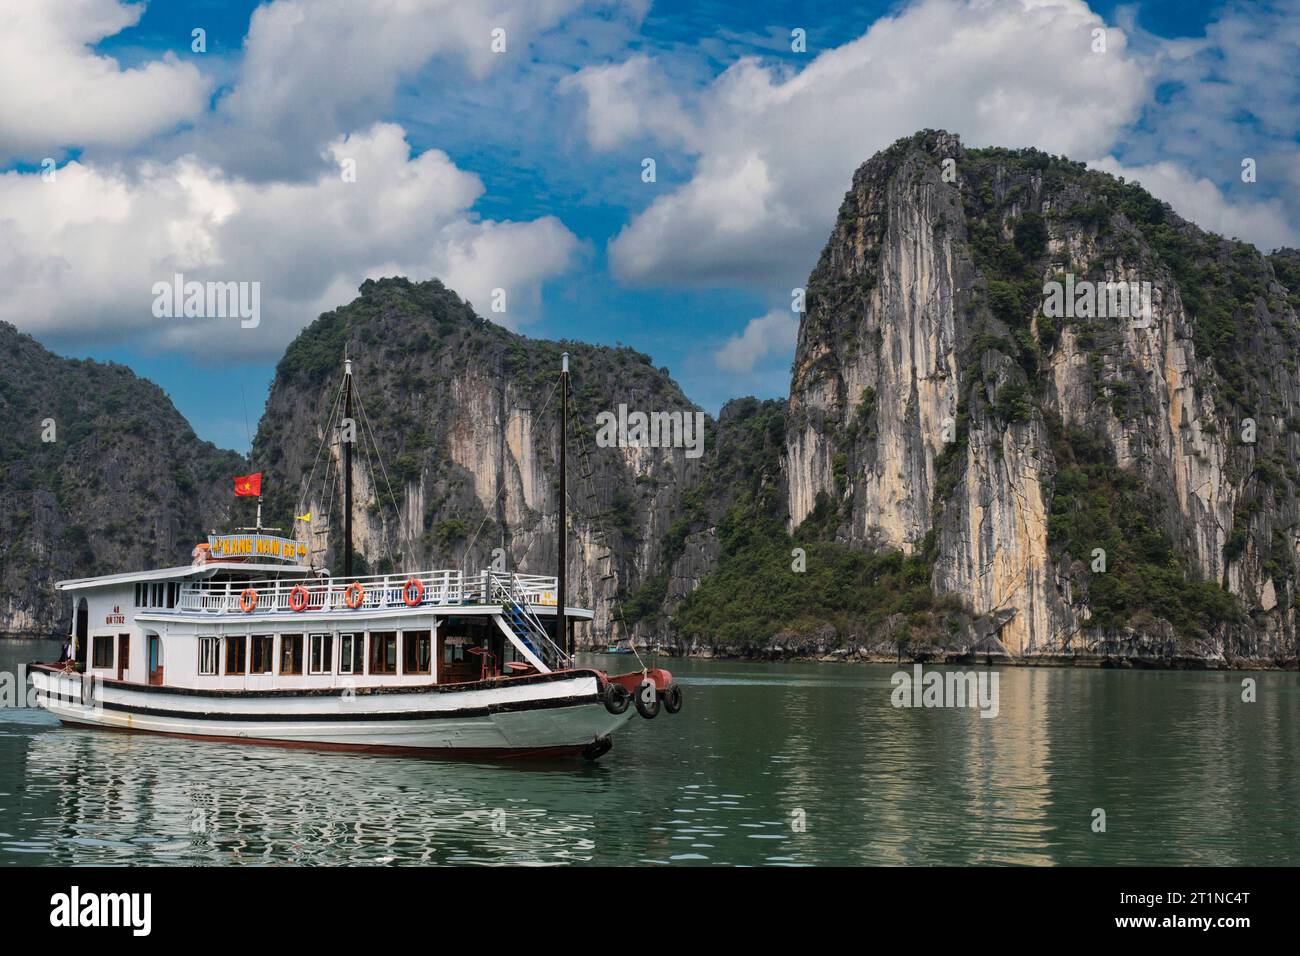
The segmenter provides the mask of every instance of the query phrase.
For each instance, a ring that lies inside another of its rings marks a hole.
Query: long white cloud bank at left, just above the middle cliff
[[[507,290],[517,325],[540,286],[569,267],[577,238],[558,220],[480,221],[482,193],[438,150],[412,157],[399,126],[330,144],[332,168],[302,183],[250,183],[194,157],[138,172],[69,163],[55,182],[0,176],[0,319],[62,339],[122,339],[205,358],[273,359],[308,321],[367,277],[438,276],[486,312]],[[337,164],[356,161],[356,181]],[[261,325],[156,319],[152,286],[261,284]]]

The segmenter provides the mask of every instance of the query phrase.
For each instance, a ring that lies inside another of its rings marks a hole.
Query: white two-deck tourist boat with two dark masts
[[[560,375],[560,523],[568,356]],[[342,384],[347,418],[352,373]],[[335,403],[337,405],[337,403]],[[333,424],[333,423],[332,423]],[[57,584],[70,658],[38,663],[40,706],[66,724],[313,749],[597,758],[634,714],[676,713],[663,669],[575,663],[564,535],[556,576],[460,568],[355,576],[351,442],[341,442],[343,575],[257,527],[214,535],[190,566]]]

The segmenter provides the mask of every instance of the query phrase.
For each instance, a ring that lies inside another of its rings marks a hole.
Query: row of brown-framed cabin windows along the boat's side
[[[369,637],[369,641],[367,641]],[[367,656],[367,644],[369,656]],[[433,635],[429,631],[372,631],[364,633],[282,633],[233,635],[225,637],[225,653],[218,654],[216,637],[199,639],[199,674],[214,676],[218,657],[222,674],[430,674]],[[306,661],[304,661],[306,645]],[[399,653],[400,649],[400,653]],[[451,650],[451,645],[447,648]],[[455,648],[456,659],[464,650]],[[400,657],[402,669],[398,670]],[[335,669],[337,663],[337,669]],[[274,666],[274,670],[273,670]]]

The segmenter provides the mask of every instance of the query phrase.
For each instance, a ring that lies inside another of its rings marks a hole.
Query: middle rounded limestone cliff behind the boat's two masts
[[[701,459],[685,447],[598,446],[597,416],[620,403],[645,412],[696,406],[645,355],[525,339],[438,281],[368,281],[360,298],[289,347],[254,442],[268,514],[289,520],[309,510],[312,527],[296,523],[300,540],[317,561],[338,564],[342,459],[326,425],[347,354],[360,437],[373,434],[385,462],[369,460],[359,442],[352,519],[364,566],[478,570],[499,558],[511,570],[554,574],[562,351],[573,377],[571,601],[597,610],[595,636],[619,636],[615,597],[640,593],[664,564]],[[651,593],[667,593],[658,587]]]

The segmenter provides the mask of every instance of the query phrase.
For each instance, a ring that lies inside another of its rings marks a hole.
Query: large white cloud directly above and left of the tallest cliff
[[[611,242],[615,276],[789,287],[815,261],[853,170],[922,127],[1100,159],[1149,86],[1121,31],[1092,51],[1100,26],[1080,0],[920,0],[798,73],[737,62],[701,95],[690,181]],[[611,126],[630,135],[625,120],[601,122],[608,98],[593,103],[593,144]]]

